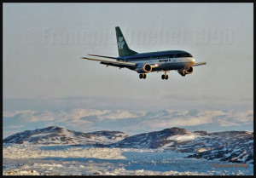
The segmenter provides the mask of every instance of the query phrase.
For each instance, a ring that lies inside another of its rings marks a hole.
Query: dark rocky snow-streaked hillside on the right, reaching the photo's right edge
[[[172,128],[133,135],[111,144],[113,147],[163,148],[175,152],[191,152],[188,158],[218,159],[253,164],[253,133],[227,131],[207,133]]]

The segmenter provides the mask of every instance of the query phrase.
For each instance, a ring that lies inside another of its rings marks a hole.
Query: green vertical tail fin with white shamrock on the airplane
[[[116,32],[118,49],[119,49],[119,56],[137,54],[137,52],[129,49],[128,44],[125,41],[125,37],[123,36],[123,33],[121,32],[119,26],[115,27],[115,32]]]

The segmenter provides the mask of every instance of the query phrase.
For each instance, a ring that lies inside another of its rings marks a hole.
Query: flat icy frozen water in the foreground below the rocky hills
[[[253,175],[253,164],[185,158],[162,149],[3,145],[3,175]]]

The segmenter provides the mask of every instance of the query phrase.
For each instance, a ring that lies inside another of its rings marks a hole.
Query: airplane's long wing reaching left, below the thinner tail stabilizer
[[[122,62],[122,61],[114,61],[114,60],[98,60],[98,59],[94,59],[94,58],[87,58],[87,57],[82,57],[82,59],[86,59],[86,60],[96,60],[96,61],[100,61],[100,64],[104,64],[107,66],[117,66],[117,67],[126,67],[126,68],[130,68],[130,69],[134,69],[136,67],[136,64],[133,62]]]

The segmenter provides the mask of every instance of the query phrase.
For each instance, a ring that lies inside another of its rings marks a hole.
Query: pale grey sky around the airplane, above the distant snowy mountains
[[[82,60],[185,50],[186,77]],[[3,110],[253,109],[253,3],[3,3]]]

